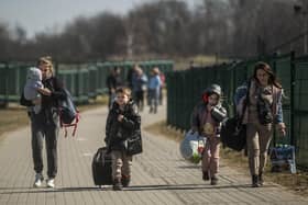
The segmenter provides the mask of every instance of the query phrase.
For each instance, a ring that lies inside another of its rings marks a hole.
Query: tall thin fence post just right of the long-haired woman
[[[294,127],[294,118],[295,118],[295,110],[294,110],[294,101],[295,101],[295,73],[296,73],[296,67],[295,67],[295,52],[290,53],[290,145],[295,146],[296,144],[296,137],[295,137],[295,127]]]

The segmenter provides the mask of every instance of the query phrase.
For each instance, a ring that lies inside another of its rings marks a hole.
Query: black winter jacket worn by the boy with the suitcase
[[[120,114],[124,115],[122,122],[118,121]],[[141,117],[132,100],[124,106],[123,111],[114,102],[109,111],[106,123],[105,143],[109,150],[125,150],[127,139],[141,135],[140,124]]]

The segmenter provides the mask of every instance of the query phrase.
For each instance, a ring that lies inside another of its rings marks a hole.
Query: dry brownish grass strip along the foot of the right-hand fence
[[[150,125],[145,127],[145,130],[156,135],[165,136],[176,141],[180,141],[185,135],[184,132],[172,126],[167,126],[165,121]],[[220,151],[220,157],[228,167],[241,172],[246,172],[249,174],[248,158],[245,157],[244,152],[238,152],[228,148],[223,148]],[[297,170],[296,174],[287,172],[272,173],[270,170],[271,167],[270,163],[267,163],[264,174],[265,182],[274,182],[287,187],[298,195],[305,197],[308,196],[308,172]]]

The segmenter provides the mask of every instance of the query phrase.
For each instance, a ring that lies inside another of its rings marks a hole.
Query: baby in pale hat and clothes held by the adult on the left
[[[42,71],[38,68],[32,67],[26,73],[26,83],[23,88],[24,98],[29,101],[41,100],[40,90],[44,89],[42,83]],[[41,111],[41,103],[33,106],[34,113]]]

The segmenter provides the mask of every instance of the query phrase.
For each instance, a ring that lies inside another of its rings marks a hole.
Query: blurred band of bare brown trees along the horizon
[[[219,55],[246,58],[295,49],[302,54],[304,15],[288,0],[200,0],[191,10],[183,0],[156,0],[120,16],[102,12],[78,16],[61,34],[32,39],[18,26],[0,24],[1,59],[85,61],[110,56]],[[307,16],[306,16],[307,18]],[[13,36],[13,37],[12,37]]]

